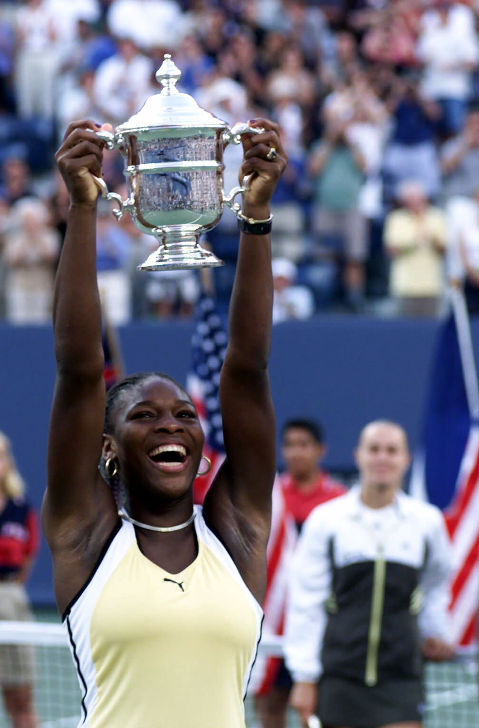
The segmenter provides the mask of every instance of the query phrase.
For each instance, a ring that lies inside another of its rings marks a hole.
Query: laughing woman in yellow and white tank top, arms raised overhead
[[[55,283],[57,379],[42,520],[82,725],[91,728],[245,726],[275,471],[269,202],[286,165],[277,125],[250,125],[220,380],[226,460],[202,509],[192,486],[205,472],[204,435],[183,387],[163,373],[140,373],[106,397],[95,268],[93,175],[105,145],[98,127],[70,124],[56,155],[71,207]]]

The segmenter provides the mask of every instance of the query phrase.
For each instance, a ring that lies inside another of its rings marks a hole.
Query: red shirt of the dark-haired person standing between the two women
[[[314,486],[306,488],[306,491],[298,487],[287,472],[280,475],[280,483],[285,496],[286,510],[293,516],[298,531],[301,531],[301,526],[313,508],[347,492],[347,488],[337,480],[333,480],[326,472],[321,472]]]

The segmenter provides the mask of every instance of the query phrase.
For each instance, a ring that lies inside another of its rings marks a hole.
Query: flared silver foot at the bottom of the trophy
[[[193,225],[157,228],[154,235],[160,246],[138,266],[138,270],[178,271],[223,266],[223,261],[214,253],[199,245],[199,235],[202,232],[202,229]]]

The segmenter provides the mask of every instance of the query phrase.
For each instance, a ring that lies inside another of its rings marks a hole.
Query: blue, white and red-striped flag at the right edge
[[[451,639],[477,638],[479,605],[479,390],[462,292],[440,328],[412,495],[438,505],[452,542]]]

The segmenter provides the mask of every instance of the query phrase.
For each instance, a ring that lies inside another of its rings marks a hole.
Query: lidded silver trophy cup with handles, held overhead
[[[162,92],[150,96],[138,114],[114,132],[97,132],[108,149],[117,149],[124,158],[128,198],[109,192],[101,178],[95,181],[102,197],[118,203],[117,219],[128,210],[137,228],[159,242],[138,268],[221,266],[223,261],[199,245],[199,237],[218,223],[224,207],[241,211],[234,198],[248,184],[245,178],[241,186],[224,193],[223,151],[227,144],[239,144],[243,134],[263,130],[248,124],[230,129],[190,95],[180,93],[176,83],[181,71],[169,54],[156,76]]]

